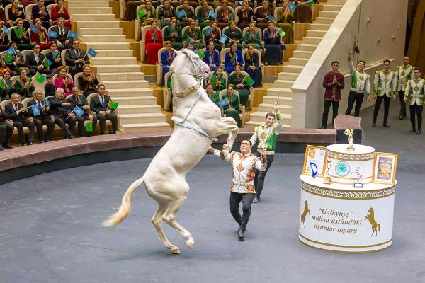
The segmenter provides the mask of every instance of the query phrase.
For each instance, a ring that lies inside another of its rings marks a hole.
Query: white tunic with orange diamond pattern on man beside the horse
[[[214,154],[220,156],[220,151],[215,149]],[[240,194],[255,194],[255,171],[266,171],[267,163],[263,163],[261,158],[254,156],[254,154],[242,155],[240,152],[235,151],[227,154],[226,160],[230,161],[233,166],[233,179],[230,190]]]

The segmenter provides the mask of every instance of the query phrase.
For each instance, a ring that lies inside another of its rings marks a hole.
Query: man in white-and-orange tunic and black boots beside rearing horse
[[[230,185],[230,213],[239,224],[237,236],[239,241],[244,241],[244,232],[251,216],[251,204],[255,197],[254,175],[255,171],[266,171],[266,149],[261,157],[251,154],[251,141],[242,139],[241,152],[232,151],[225,157],[233,166],[233,179]],[[210,153],[220,156],[222,151],[210,147]],[[239,213],[239,203],[242,201],[242,217]]]

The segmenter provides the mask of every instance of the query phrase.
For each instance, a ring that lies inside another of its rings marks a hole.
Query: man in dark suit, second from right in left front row
[[[83,115],[75,115],[75,119],[78,122],[78,137],[83,137],[84,130],[84,121],[89,120],[93,122],[93,130],[96,129],[97,117],[93,115],[90,111],[90,105],[87,102],[87,98],[81,95],[79,87],[74,86],[72,88],[72,96],[68,98],[69,103],[71,103],[71,108],[75,107],[81,108],[84,111]],[[87,136],[91,137],[93,132],[87,132]]]

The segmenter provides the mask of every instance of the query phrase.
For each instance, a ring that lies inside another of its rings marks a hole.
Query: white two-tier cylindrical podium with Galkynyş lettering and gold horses
[[[356,151],[347,151],[347,146],[327,147],[331,184],[300,177],[300,241],[340,253],[383,250],[392,244],[395,185],[372,182],[375,149],[356,145]],[[358,180],[363,186],[354,187]]]

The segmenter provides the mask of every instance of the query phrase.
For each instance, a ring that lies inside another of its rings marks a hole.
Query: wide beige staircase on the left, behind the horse
[[[90,58],[98,80],[119,103],[120,132],[170,129],[109,1],[68,0],[67,4],[72,21],[77,23],[79,40],[98,53]]]

